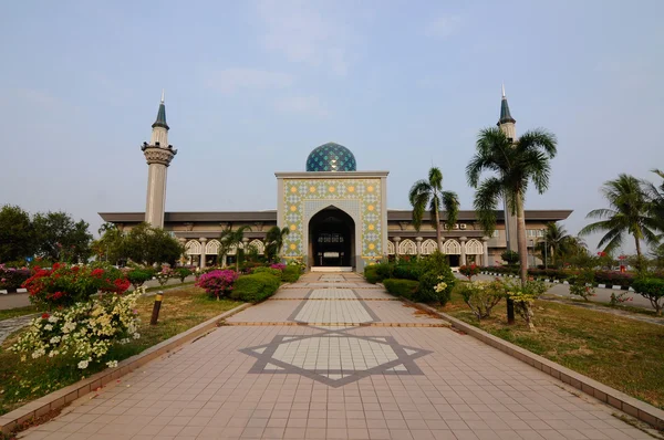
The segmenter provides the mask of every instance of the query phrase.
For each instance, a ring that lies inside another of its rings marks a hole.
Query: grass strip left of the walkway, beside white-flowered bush
[[[113,347],[110,359],[126,359],[241,304],[210,300],[198,287],[174,289],[164,293],[159,322],[151,326],[154,301],[154,296],[138,298],[141,338]],[[75,363],[61,357],[21,362],[19,355],[7,350],[15,338],[17,334],[10,336],[0,348],[0,415],[105,368],[102,364],[80,370]]]

